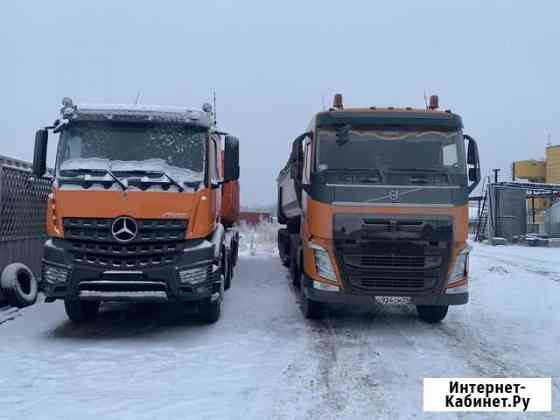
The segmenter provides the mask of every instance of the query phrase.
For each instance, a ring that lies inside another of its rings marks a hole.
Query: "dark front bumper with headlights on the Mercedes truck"
[[[219,246],[219,245],[218,245]],[[197,301],[216,299],[221,291],[221,266],[211,241],[186,242],[173,264],[111,270],[73,261],[68,242],[49,239],[44,246],[40,288],[47,300]],[[185,275],[194,270],[193,276]],[[181,276],[183,272],[183,276]],[[54,273],[54,274],[53,274]],[[181,281],[181,277],[191,282]]]

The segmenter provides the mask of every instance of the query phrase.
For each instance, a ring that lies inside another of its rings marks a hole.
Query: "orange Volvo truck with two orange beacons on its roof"
[[[468,198],[478,148],[461,117],[427,109],[333,107],[293,142],[278,177],[280,257],[303,312],[406,302],[441,321],[468,301]]]

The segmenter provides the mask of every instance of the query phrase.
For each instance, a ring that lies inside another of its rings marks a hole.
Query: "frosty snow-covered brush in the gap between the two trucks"
[[[239,225],[241,255],[270,255],[278,253],[278,223],[261,221],[250,225],[242,221]]]

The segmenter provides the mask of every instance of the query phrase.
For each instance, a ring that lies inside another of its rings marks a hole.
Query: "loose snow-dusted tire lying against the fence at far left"
[[[6,266],[0,278],[0,289],[8,303],[16,308],[24,308],[37,301],[37,280],[25,264]]]

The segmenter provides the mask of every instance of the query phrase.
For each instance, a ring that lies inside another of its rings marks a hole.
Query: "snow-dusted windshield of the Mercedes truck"
[[[180,183],[204,179],[206,130],[174,124],[83,122],[62,131],[57,169],[126,177],[164,173]]]

